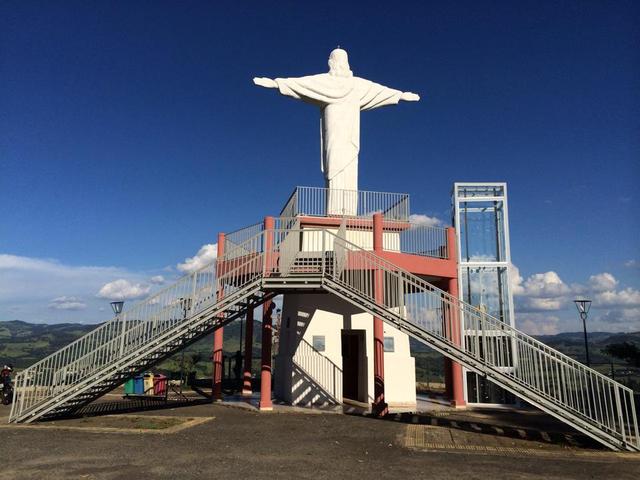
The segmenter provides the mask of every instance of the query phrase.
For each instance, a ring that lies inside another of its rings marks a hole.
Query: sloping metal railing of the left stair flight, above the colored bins
[[[262,233],[242,245],[262,243]],[[16,375],[10,419],[68,391],[141,347],[174,332],[222,296],[262,276],[262,255],[223,256]],[[219,276],[217,275],[219,274]]]

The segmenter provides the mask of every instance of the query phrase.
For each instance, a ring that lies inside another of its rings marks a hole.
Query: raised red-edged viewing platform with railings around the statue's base
[[[454,228],[412,221],[407,193],[298,186],[279,216],[273,217],[271,228],[276,231],[328,229],[336,233],[344,226],[349,242],[373,251],[373,232],[377,222],[382,229],[379,255],[436,283],[442,278],[457,277]],[[264,229],[264,222],[259,222],[226,233],[226,251],[245,243]],[[311,235],[311,232],[301,235],[303,251],[314,250]],[[279,241],[277,237],[276,243]],[[261,251],[259,245],[254,248],[255,252]],[[239,256],[243,250],[238,250]]]

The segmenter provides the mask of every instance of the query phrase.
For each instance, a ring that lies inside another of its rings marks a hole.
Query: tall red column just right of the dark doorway
[[[376,253],[383,250],[383,221],[382,213],[373,215],[373,250]],[[374,296],[380,303],[384,301],[383,275],[381,270],[374,271]],[[371,411],[374,415],[389,413],[384,400],[384,323],[378,317],[373,317],[373,399]]]

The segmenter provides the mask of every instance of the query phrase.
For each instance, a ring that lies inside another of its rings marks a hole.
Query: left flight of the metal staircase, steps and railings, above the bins
[[[69,414],[269,298],[252,238],[20,372],[11,422]],[[234,259],[235,257],[235,259]]]

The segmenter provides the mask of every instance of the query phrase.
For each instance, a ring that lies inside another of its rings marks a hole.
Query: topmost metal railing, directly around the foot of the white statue
[[[296,187],[281,216],[295,217],[370,217],[381,212],[386,219],[409,220],[409,195],[406,193],[336,190],[320,187]]]

